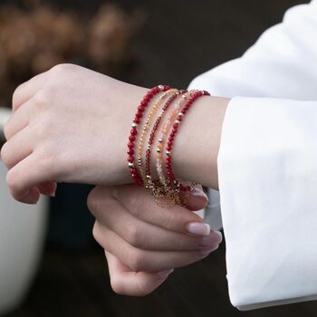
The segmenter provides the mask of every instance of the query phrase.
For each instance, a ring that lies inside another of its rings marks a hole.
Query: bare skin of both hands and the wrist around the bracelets
[[[80,66],[57,65],[14,91],[0,153],[17,201],[36,204],[41,194],[52,196],[58,182],[96,185],[87,200],[96,218],[93,235],[105,250],[113,290],[130,295],[152,292],[170,269],[206,257],[221,242],[212,232],[187,232],[189,223],[203,222],[193,211],[205,207],[207,197],[164,209],[146,188],[132,184],[127,140],[147,91]],[[177,178],[217,188],[228,101],[204,96],[187,112],[173,147]],[[151,161],[155,175],[154,151]]]

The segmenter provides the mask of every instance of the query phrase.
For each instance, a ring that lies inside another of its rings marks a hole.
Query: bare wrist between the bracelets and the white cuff
[[[203,96],[187,111],[172,149],[172,167],[176,178],[218,189],[216,159],[229,101],[226,98]],[[152,155],[152,175],[155,175],[155,153]]]

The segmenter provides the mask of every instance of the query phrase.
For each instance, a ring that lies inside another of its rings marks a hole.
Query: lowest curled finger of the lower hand
[[[134,272],[122,264],[114,255],[105,251],[110,274],[111,288],[115,293],[130,296],[145,296],[163,283],[173,269],[167,272],[146,273]]]

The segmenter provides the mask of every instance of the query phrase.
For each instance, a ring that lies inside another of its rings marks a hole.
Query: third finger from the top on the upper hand
[[[13,168],[21,160],[28,157],[34,149],[33,133],[25,127],[7,140],[1,149],[1,159],[8,169]]]

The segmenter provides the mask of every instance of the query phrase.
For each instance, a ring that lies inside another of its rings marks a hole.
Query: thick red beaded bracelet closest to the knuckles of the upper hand
[[[138,124],[140,122],[140,120],[143,117],[143,113],[144,110],[146,110],[146,108],[149,105],[149,101],[152,100],[152,98],[158,94],[160,91],[168,91],[170,89],[170,87],[168,85],[159,85],[159,86],[155,86],[153,88],[151,88],[147,94],[143,97],[143,100],[140,101],[139,103],[139,107],[138,107],[138,111],[135,115],[135,119],[133,120],[133,123],[131,125],[132,129],[130,130],[130,137],[129,137],[129,142],[128,142],[128,166],[130,168],[130,174],[131,177],[133,178],[134,182],[141,187],[143,185],[143,181],[142,178],[140,178],[139,176],[139,171],[137,169],[137,167],[134,165],[134,142],[135,139],[137,138],[137,134],[138,134]]]

